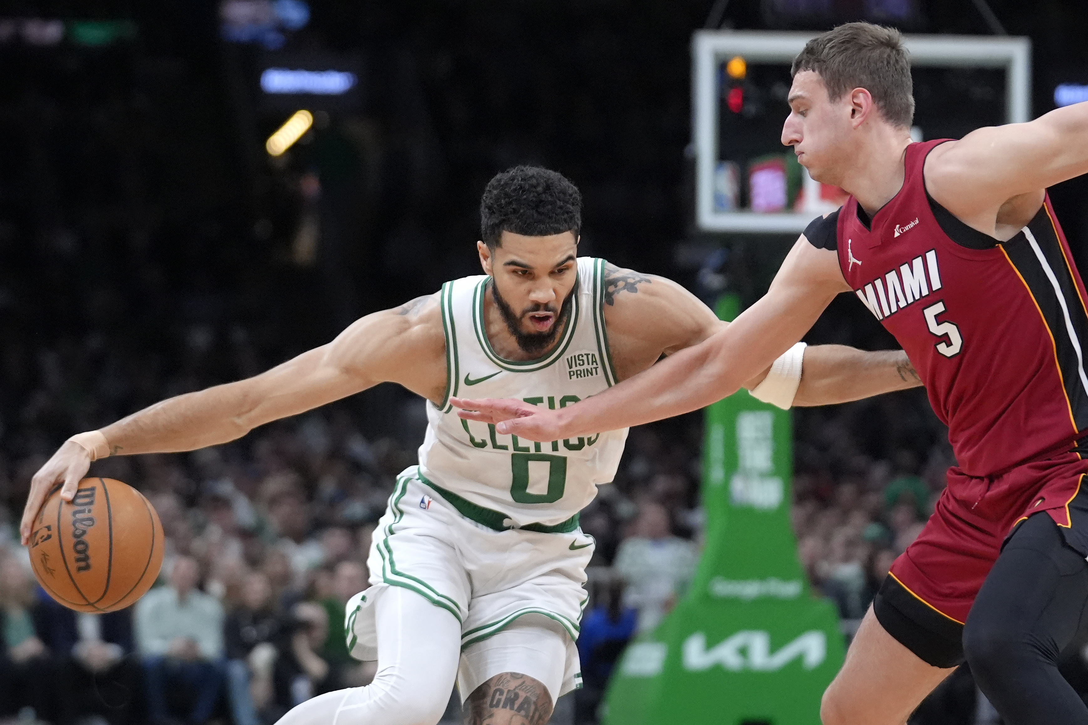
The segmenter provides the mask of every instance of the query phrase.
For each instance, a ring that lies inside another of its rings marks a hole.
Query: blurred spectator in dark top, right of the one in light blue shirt
[[[289,707],[289,695],[276,691],[275,665],[287,637],[273,601],[268,576],[261,572],[248,574],[242,603],[223,625],[234,725],[260,725],[262,720],[272,720],[262,718],[262,713],[271,714],[280,703]]]

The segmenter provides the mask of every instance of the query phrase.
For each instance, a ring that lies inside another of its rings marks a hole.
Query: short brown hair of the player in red
[[[871,23],[840,25],[805,43],[793,59],[790,75],[801,71],[818,73],[832,101],[848,90],[864,88],[888,123],[908,128],[914,120],[911,60],[895,28]]]

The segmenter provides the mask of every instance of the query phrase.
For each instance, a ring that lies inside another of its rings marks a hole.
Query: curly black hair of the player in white
[[[480,200],[480,234],[491,249],[503,232],[544,237],[582,228],[582,195],[558,172],[515,166],[487,182]]]

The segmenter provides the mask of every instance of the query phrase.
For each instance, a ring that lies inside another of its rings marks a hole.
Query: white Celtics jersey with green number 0
[[[518,398],[556,409],[614,385],[602,309],[604,265],[601,259],[578,260],[570,323],[554,350],[533,361],[504,360],[492,350],[483,324],[487,276],[443,285],[449,383],[442,407],[426,405],[426,437],[419,449],[426,480],[505,514],[515,526],[564,522],[593,500],[598,485],[611,482],[627,428],[533,442],[463,421],[447,402],[449,396]]]

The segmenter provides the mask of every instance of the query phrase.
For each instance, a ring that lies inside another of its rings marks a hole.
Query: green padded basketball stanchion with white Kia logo
[[[738,312],[719,301],[720,318]],[[792,437],[791,413],[746,390],[707,408],[705,547],[687,596],[617,663],[606,725],[819,724],[845,645],[798,560]]]

